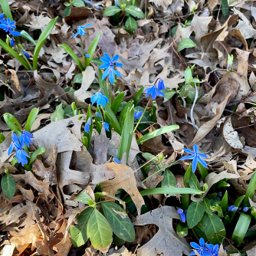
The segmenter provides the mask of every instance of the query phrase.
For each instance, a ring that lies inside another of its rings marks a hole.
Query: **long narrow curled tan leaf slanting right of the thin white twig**
[[[198,143],[199,140],[201,140],[207,133],[209,133],[210,130],[215,126],[215,124],[218,122],[218,120],[222,117],[222,113],[225,110],[225,106],[228,101],[228,97],[231,95],[228,94],[225,97],[225,100],[220,103],[216,109],[216,115],[212,120],[209,120],[208,122],[204,123],[202,126],[199,127],[199,130],[195,134],[195,138],[192,140],[191,143],[189,143],[189,147],[192,147],[195,143]]]

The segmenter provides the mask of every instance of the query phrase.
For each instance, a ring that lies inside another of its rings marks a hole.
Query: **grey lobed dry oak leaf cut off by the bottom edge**
[[[138,256],[182,256],[182,253],[189,255],[190,245],[185,238],[180,238],[172,228],[172,218],[180,220],[176,208],[172,206],[162,206],[151,212],[140,215],[133,225],[155,224],[159,231],[154,237],[138,249]]]

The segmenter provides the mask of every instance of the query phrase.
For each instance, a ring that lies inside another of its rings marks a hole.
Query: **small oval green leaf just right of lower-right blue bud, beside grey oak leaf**
[[[200,202],[192,202],[189,205],[187,212],[187,223],[189,228],[194,228],[201,220],[205,213],[204,208],[200,204]]]

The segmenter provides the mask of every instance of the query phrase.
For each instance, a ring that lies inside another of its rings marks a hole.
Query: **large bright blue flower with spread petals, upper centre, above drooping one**
[[[122,67],[123,64],[117,62],[119,55],[115,55],[112,60],[111,57],[104,53],[105,57],[100,57],[100,61],[103,61],[104,64],[102,64],[99,68],[107,68],[106,71],[104,71],[103,76],[102,76],[102,80],[105,79],[105,77],[107,77],[107,75],[109,75],[109,79],[110,79],[110,83],[113,84],[115,77],[114,75],[116,74],[117,77],[121,77],[121,74],[118,71],[115,71],[115,67],[114,64],[116,63],[116,67]]]

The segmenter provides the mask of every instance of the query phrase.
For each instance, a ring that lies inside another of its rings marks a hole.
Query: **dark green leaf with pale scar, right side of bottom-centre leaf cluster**
[[[133,242],[135,238],[133,224],[123,208],[114,202],[103,202],[101,207],[113,232],[119,238]]]

